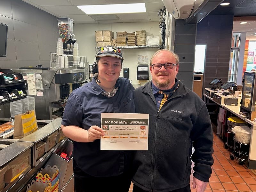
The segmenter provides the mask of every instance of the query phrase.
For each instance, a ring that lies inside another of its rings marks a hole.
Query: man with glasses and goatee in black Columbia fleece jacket
[[[178,55],[157,51],[150,60],[152,81],[133,93],[136,113],[149,113],[148,151],[135,152],[133,192],[190,191],[191,158],[196,192],[204,191],[211,176],[210,116],[203,100],[178,81],[178,70]]]

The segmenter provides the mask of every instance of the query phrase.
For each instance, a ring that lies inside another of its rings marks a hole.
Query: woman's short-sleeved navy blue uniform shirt
[[[101,113],[135,113],[134,88],[129,79],[119,77],[115,96],[107,98],[96,83],[85,84],[71,92],[62,117],[64,126],[77,125],[88,130],[92,125],[100,127]],[[130,151],[100,150],[100,139],[82,143],[74,141],[73,158],[77,166],[89,175],[108,177],[122,174],[129,163]]]

